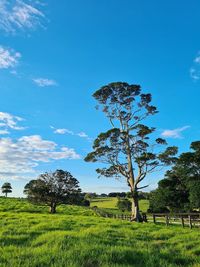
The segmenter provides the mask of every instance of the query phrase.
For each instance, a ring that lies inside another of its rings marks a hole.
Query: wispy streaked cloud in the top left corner
[[[0,0],[0,28],[7,33],[36,29],[45,19],[39,1]]]

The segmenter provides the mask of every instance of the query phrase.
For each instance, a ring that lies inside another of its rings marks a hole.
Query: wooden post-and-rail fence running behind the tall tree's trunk
[[[114,218],[131,221],[131,216],[127,214],[111,214],[100,209],[95,210],[96,213],[105,218]],[[182,225],[182,227],[200,227],[200,213],[142,213],[145,222],[155,224]]]

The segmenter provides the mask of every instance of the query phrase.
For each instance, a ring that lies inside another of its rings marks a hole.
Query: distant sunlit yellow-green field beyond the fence
[[[118,210],[116,207],[117,197],[103,197],[103,198],[95,198],[91,202],[91,207],[97,206],[101,208],[103,211],[114,214],[121,214],[122,212]],[[146,212],[149,208],[148,200],[140,200],[140,210]],[[125,212],[130,214],[130,212]]]

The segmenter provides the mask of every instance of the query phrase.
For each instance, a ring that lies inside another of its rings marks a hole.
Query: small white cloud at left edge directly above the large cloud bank
[[[18,123],[23,121],[21,117],[14,116],[6,112],[0,112],[0,134],[8,134],[9,129],[24,130],[25,127],[18,126]]]

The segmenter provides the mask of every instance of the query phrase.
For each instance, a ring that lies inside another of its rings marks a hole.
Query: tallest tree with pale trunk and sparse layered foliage
[[[151,94],[143,94],[139,85],[110,83],[93,97],[102,106],[111,129],[99,134],[85,160],[107,164],[96,170],[99,175],[125,178],[132,195],[132,219],[141,221],[138,190],[145,186],[141,187],[140,183],[158,167],[174,162],[177,148],[168,147],[159,153],[159,147],[166,145],[166,141],[150,139],[155,128],[142,121],[156,114],[157,109],[151,105]]]

